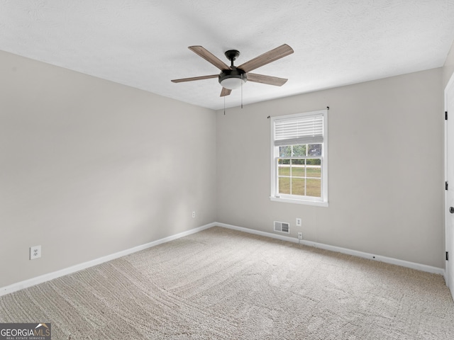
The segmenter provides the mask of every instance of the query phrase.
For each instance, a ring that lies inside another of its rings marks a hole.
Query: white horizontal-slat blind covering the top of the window
[[[275,120],[275,146],[323,142],[323,114]]]

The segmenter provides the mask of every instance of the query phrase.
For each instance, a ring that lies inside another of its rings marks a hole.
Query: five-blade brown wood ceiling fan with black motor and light
[[[192,50],[192,52],[196,53],[196,55],[204,58],[207,62],[214,64],[214,66],[221,70],[221,73],[211,74],[209,76],[174,79],[172,81],[174,83],[182,83],[184,81],[218,78],[219,83],[222,85],[221,97],[228,96],[231,94],[233,89],[238,89],[238,87],[245,84],[246,81],[275,86],[284,85],[287,79],[250,73],[250,71],[269,64],[270,62],[275,62],[276,60],[286,57],[287,55],[291,55],[294,52],[292,47],[284,44],[273,50],[265,52],[262,55],[245,62],[244,64],[240,64],[240,66],[235,66],[233,65],[233,62],[239,57],[240,52],[237,50],[228,50],[225,52],[227,59],[231,61],[231,66],[228,66],[225,62],[219,60],[218,57],[213,55],[204,47],[189,46],[188,48],[189,50]]]

